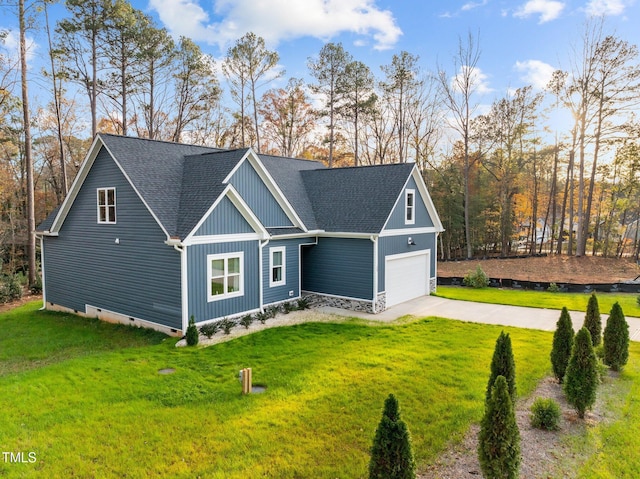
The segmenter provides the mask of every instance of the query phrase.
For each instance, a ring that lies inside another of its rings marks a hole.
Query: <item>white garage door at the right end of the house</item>
[[[430,253],[417,251],[385,258],[387,308],[429,294]]]

